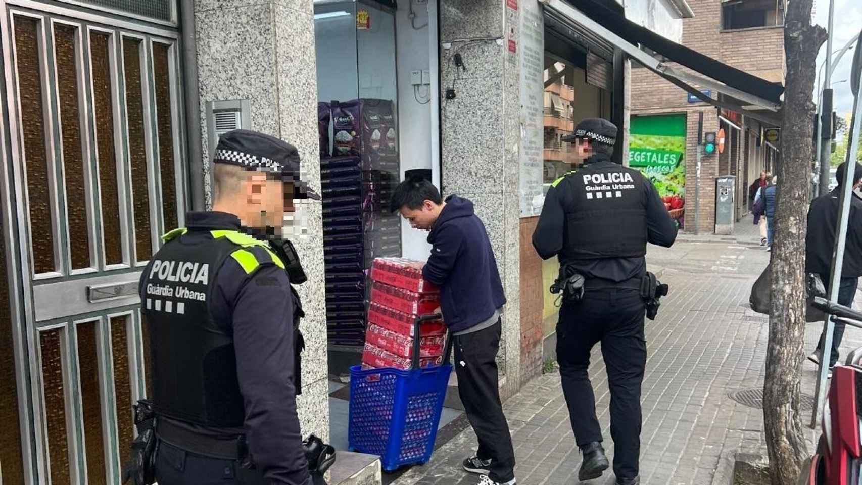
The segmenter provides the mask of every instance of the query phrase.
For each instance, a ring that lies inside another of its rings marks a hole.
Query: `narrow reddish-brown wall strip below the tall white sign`
[[[533,248],[538,217],[522,217],[521,252],[521,378],[524,382],[541,375],[542,293],[541,258]]]

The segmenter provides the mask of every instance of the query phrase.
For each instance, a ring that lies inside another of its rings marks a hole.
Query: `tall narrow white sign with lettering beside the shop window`
[[[522,0],[521,50],[521,216],[541,213],[544,192],[545,21],[538,0]]]

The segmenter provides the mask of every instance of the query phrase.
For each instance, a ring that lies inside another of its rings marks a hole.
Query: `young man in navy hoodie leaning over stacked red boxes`
[[[422,276],[440,287],[440,310],[453,335],[459,395],[479,442],[464,469],[482,475],[481,485],[515,485],[515,451],[497,382],[506,297],[484,224],[473,212],[473,202],[459,196],[444,202],[422,178],[398,185],[390,209],[412,227],[430,231],[433,247]]]

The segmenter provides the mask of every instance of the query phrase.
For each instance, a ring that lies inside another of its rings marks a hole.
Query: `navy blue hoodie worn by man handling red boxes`
[[[440,310],[450,331],[477,326],[503,307],[497,259],[473,202],[448,196],[428,243],[433,247],[422,276],[440,287]]]

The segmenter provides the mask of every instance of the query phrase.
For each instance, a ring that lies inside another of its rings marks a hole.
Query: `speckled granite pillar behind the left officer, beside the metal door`
[[[195,0],[201,149],[209,158],[209,101],[247,99],[253,130],[297,146],[303,177],[320,190],[317,81],[312,0]],[[209,163],[204,164],[209,207]],[[320,202],[307,202],[304,238],[293,238],[309,281],[297,289],[306,313],[301,329],[303,395],[297,396],[303,434],[328,439],[326,295]]]

